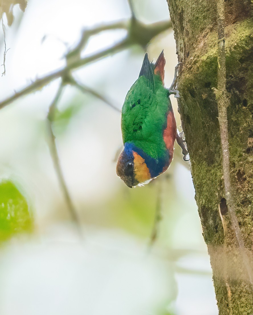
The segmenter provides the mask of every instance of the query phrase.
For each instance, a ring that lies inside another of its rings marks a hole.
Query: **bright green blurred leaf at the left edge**
[[[25,197],[10,181],[0,183],[0,241],[33,230],[33,217]]]

